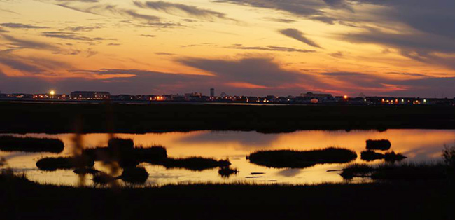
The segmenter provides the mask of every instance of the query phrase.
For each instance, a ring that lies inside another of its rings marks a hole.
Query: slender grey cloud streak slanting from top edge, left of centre
[[[211,11],[209,9],[198,8],[196,6],[189,6],[185,4],[170,3],[165,1],[146,1],[144,3],[141,3],[140,1],[134,1],[134,4],[139,8],[150,8],[172,15],[181,15],[181,13],[184,13],[191,18],[200,18],[204,20],[214,20],[216,18],[223,20],[232,20],[231,18],[228,18],[225,13]]]

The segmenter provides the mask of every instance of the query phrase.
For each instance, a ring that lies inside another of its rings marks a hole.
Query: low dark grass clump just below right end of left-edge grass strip
[[[68,170],[80,167],[93,167],[94,161],[87,157],[58,157],[58,158],[41,158],[36,162],[39,170],[54,171]]]

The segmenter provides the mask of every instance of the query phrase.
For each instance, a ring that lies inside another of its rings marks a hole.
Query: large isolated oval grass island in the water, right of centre
[[[323,163],[348,163],[355,160],[354,151],[330,147],[312,151],[256,151],[247,157],[251,163],[276,168],[304,168]]]

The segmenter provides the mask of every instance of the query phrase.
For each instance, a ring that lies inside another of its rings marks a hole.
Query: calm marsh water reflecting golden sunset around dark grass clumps
[[[0,156],[8,160],[8,166],[25,172],[32,181],[50,184],[77,185],[78,176],[72,170],[57,170],[56,172],[40,171],[36,161],[44,156],[71,156],[71,141],[73,134],[45,135],[26,134],[16,136],[52,137],[62,139],[65,149],[62,153],[20,153],[1,152]],[[344,165],[316,165],[305,169],[275,169],[254,165],[245,156],[253,151],[272,149],[310,150],[328,146],[340,146],[352,149],[358,153],[356,162],[360,160],[360,151],[365,150],[367,139],[388,139],[392,143],[391,150],[403,153],[408,158],[403,162],[419,162],[440,160],[444,144],[455,143],[455,130],[374,130],[360,131],[298,131],[285,134],[261,134],[258,132],[169,132],[163,134],[119,134],[116,137],[131,138],[136,145],[165,146],[170,157],[203,156],[218,159],[229,158],[232,167],[240,172],[228,179],[218,174],[218,169],[194,172],[183,169],[166,169],[165,167],[148,165],[144,167],[150,174],[148,184],[175,184],[188,182],[251,182],[251,183],[281,183],[281,184],[318,184],[323,182],[340,182],[338,172]],[[107,134],[83,135],[85,148],[107,146]],[[381,163],[376,160],[374,163]],[[97,170],[105,170],[100,163],[95,164]],[[252,172],[264,174],[252,175]],[[85,184],[92,184],[91,176],[85,177]],[[356,179],[356,181],[363,181]]]

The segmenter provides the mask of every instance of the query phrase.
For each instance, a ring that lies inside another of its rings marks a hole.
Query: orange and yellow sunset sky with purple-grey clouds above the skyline
[[[454,0],[0,0],[0,92],[455,97]]]

